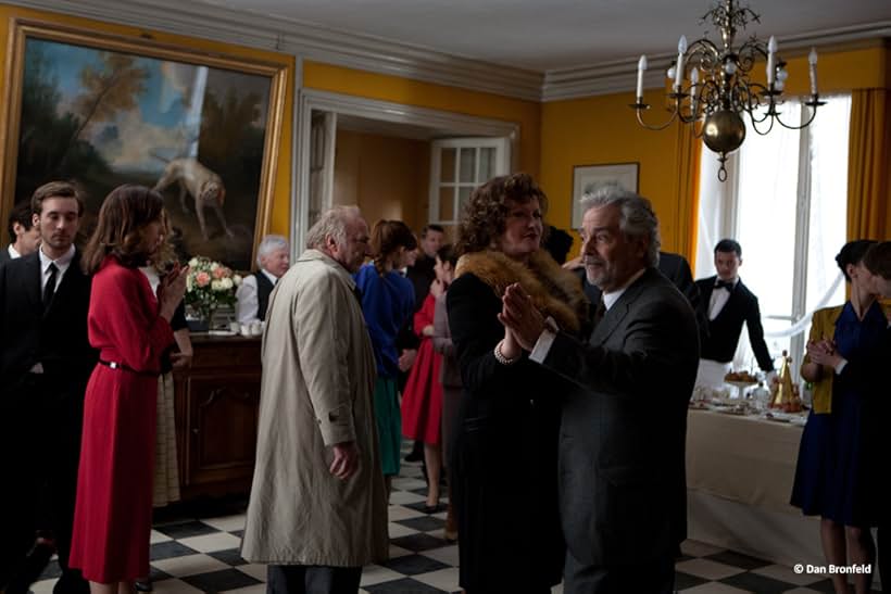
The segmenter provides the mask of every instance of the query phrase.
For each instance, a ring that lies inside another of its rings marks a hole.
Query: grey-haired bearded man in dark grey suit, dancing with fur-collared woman
[[[699,358],[695,316],[661,275],[650,202],[617,186],[582,199],[582,254],[603,298],[587,342],[560,331],[518,285],[500,319],[519,349],[572,380],[560,435],[566,594],[670,593],[686,538],[687,403]]]

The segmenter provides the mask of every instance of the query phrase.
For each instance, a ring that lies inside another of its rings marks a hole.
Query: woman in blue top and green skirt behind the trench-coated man
[[[355,274],[355,283],[377,361],[375,420],[389,493],[392,477],[399,475],[402,443],[402,417],[397,400],[399,351],[396,338],[415,307],[414,288],[400,270],[407,266],[412,252],[417,248],[417,240],[401,220],[379,220],[372,230],[371,247],[374,261],[360,268]]]

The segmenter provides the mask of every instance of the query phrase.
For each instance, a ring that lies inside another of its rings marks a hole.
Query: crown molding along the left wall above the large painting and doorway
[[[310,61],[541,100],[543,74],[374,36],[199,2],[158,0],[7,0],[8,4],[293,54]]]

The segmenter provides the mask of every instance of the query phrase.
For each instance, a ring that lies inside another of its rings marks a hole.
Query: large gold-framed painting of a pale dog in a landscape
[[[140,184],[163,193],[180,258],[252,267],[287,66],[14,21],[7,72],[3,220],[40,185],[74,180],[88,235],[109,191]]]

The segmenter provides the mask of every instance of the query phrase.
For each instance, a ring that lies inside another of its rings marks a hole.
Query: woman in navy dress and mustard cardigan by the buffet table
[[[814,383],[814,402],[801,439],[792,505],[805,515],[820,516],[820,540],[827,564],[873,564],[876,546],[870,527],[878,522],[869,472],[875,444],[866,430],[870,416],[867,388],[840,375],[829,365],[832,355],[848,362],[863,361],[879,349],[888,319],[876,299],[871,275],[863,256],[875,241],[857,240],[842,248],[836,262],[851,283],[844,305],[814,313],[807,356],[801,368]],[[838,594],[846,593],[846,576],[833,574]],[[869,592],[871,573],[855,574],[855,592]]]

